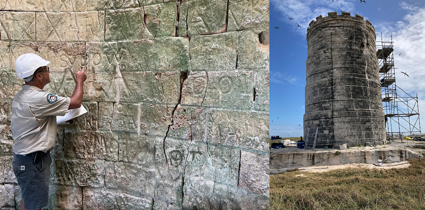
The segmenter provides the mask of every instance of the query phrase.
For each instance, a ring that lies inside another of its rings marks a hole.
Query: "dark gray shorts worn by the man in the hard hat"
[[[28,156],[13,154],[13,172],[21,187],[26,209],[48,206],[51,163],[49,151],[38,151]]]

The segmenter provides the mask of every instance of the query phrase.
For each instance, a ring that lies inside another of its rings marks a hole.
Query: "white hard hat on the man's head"
[[[46,66],[49,63],[50,61],[46,61],[34,53],[23,54],[15,61],[16,76],[19,79],[30,77],[37,68]]]

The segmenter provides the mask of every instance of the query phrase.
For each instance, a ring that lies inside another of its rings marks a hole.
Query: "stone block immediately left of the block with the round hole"
[[[193,36],[190,63],[193,70],[228,71],[237,68],[238,32]]]

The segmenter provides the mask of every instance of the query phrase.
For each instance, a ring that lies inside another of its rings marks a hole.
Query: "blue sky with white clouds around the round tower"
[[[425,112],[425,2],[365,1],[270,0],[270,136],[303,136],[307,27],[317,16],[326,17],[331,11],[365,17],[374,26],[377,40],[382,32],[383,41],[389,41],[392,33],[394,54],[402,53],[394,55],[397,86],[418,94],[419,112]]]

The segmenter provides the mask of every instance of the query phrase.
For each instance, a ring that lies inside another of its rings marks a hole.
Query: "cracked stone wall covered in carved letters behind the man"
[[[0,207],[11,168],[14,61],[50,61],[75,125],[58,125],[49,209],[268,209],[269,1],[0,0]]]

